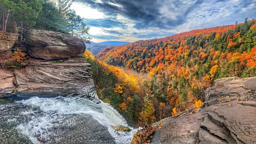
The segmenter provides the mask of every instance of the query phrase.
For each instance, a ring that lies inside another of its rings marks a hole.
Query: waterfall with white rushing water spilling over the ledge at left
[[[32,143],[40,143],[39,140],[48,141],[46,143],[54,143],[54,141],[51,141],[52,138],[57,139],[60,137],[61,139],[61,134],[66,133],[66,128],[64,129],[63,127],[76,123],[78,123],[77,125],[79,127],[79,125],[83,126],[83,124],[92,123],[95,120],[98,121],[102,127],[107,127],[106,130],[111,137],[114,138],[114,143],[130,143],[133,134],[138,131],[137,129],[129,127],[125,119],[113,107],[104,102],[96,104],[88,99],[73,97],[33,97],[28,100],[16,101],[15,105],[25,107],[20,110],[18,114],[23,118],[15,117],[14,120],[10,121],[19,121],[18,119],[27,118],[28,120],[21,121],[15,127],[15,130],[17,130],[20,135],[28,138]],[[132,131],[120,132],[111,127],[118,125],[127,126]],[[62,128],[59,129],[58,127]],[[87,129],[86,127],[92,130],[84,130]],[[93,129],[97,128],[90,128],[90,125],[86,127],[82,127],[83,132],[81,130],[81,133],[84,133],[84,131],[92,131],[93,133]],[[97,133],[97,131],[94,132]]]

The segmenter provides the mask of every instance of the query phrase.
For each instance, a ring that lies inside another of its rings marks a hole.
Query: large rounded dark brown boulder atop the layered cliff
[[[86,49],[82,39],[54,31],[29,29],[25,39],[28,54],[45,60],[77,57]]]

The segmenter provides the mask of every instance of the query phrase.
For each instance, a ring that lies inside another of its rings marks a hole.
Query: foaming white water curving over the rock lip
[[[17,130],[26,135],[33,143],[39,143],[38,137],[49,139],[52,134],[50,130],[58,126],[62,118],[67,115],[89,114],[93,116],[101,125],[108,128],[108,132],[115,138],[116,143],[130,143],[133,134],[138,131],[132,127],[130,127],[132,129],[131,132],[114,130],[111,126],[122,125],[128,127],[127,122],[113,107],[104,102],[96,104],[87,99],[73,97],[33,97],[28,100],[17,101],[17,103],[31,107],[29,110],[22,111],[21,115],[34,114],[38,110],[43,113],[38,116],[32,116],[31,121],[17,126]],[[71,120],[69,123],[65,122],[67,125],[71,123],[74,122]]]

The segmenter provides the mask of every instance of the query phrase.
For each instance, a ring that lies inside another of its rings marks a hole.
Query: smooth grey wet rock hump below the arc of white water
[[[70,123],[73,122],[73,123]],[[67,125],[67,123],[69,123]],[[115,139],[91,115],[71,115],[64,118],[52,131],[47,143],[115,143]]]

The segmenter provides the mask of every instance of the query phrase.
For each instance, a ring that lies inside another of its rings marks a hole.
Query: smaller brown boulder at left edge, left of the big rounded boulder
[[[18,34],[4,33],[0,31],[0,63],[11,61],[11,51],[18,43]]]

